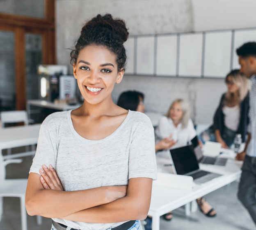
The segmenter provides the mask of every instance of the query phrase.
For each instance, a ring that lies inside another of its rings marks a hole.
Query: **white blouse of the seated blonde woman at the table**
[[[172,148],[187,145],[197,135],[191,119],[188,121],[187,127],[183,128],[181,123],[176,127],[171,118],[166,116],[160,118],[155,134],[158,140],[168,138],[172,134],[172,139],[178,140]]]

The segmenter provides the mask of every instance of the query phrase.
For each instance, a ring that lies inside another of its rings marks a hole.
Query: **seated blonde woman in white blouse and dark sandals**
[[[197,134],[194,124],[190,119],[190,109],[184,99],[176,99],[165,116],[160,118],[156,135],[159,139],[164,139],[172,135],[176,144],[172,148],[187,145]],[[206,216],[216,216],[216,211],[203,197],[197,198],[200,211]],[[172,212],[163,215],[164,219],[170,221]]]

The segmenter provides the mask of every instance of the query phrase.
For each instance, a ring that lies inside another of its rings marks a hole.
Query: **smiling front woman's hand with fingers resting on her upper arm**
[[[43,165],[43,169],[40,169],[39,172],[41,174],[40,181],[44,189],[63,191],[62,184],[53,166],[49,165],[48,168]]]

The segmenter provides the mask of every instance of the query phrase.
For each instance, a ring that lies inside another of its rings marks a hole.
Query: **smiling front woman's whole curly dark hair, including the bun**
[[[70,63],[76,63],[80,50],[87,45],[103,45],[117,55],[118,71],[124,69],[126,64],[126,50],[123,43],[128,38],[128,29],[120,18],[112,18],[111,14],[96,17],[89,20],[81,30],[80,37],[71,51]]]

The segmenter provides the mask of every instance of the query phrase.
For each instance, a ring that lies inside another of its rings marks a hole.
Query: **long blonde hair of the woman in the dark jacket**
[[[239,103],[245,99],[249,90],[251,89],[251,82],[247,77],[242,75],[239,70],[231,70],[226,75],[225,82],[227,82],[228,77],[231,77],[232,82],[238,86],[238,97]],[[233,93],[226,92],[225,94],[225,104],[229,104],[233,100]]]

